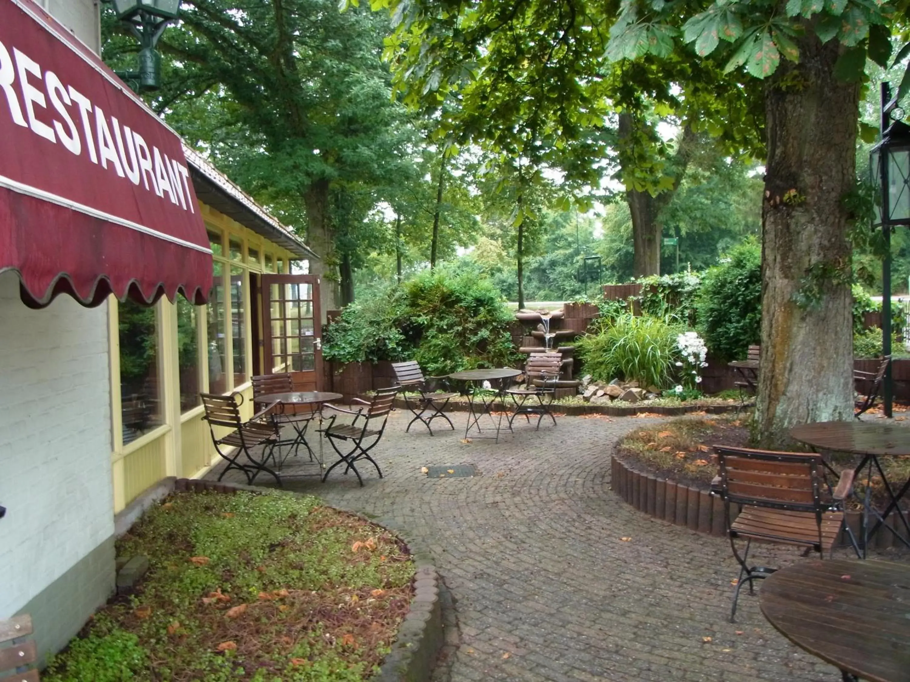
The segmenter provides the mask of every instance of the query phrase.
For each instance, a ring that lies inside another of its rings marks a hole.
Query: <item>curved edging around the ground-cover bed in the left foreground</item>
[[[238,490],[262,493],[256,486],[241,486],[233,483],[218,483],[197,478],[178,478],[174,489],[212,490],[219,493],[233,493]],[[287,495],[298,495],[283,491]],[[386,527],[382,519],[365,517],[349,512],[377,526]],[[372,677],[378,682],[424,682],[430,679],[430,672],[436,662],[443,643],[442,608],[440,604],[440,576],[436,571],[430,553],[420,547],[420,542],[399,531],[390,531],[400,537],[408,546],[414,561],[414,598],[408,615],[401,621],[398,637],[382,665],[379,674]],[[416,547],[415,547],[416,546]]]

